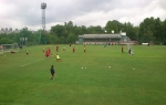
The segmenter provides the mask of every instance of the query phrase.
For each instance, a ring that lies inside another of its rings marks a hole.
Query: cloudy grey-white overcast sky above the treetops
[[[101,25],[117,20],[139,25],[145,18],[166,19],[166,0],[0,0],[0,29],[41,28],[41,3],[46,3],[45,27]]]

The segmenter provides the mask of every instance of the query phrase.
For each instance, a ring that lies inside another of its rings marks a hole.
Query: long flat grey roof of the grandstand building
[[[121,39],[121,34],[83,34],[83,35],[79,35],[79,38],[83,38],[83,39],[105,39],[105,38]]]

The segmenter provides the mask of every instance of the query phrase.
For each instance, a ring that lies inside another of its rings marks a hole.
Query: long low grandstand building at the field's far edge
[[[137,44],[126,36],[125,32],[112,34],[83,34],[79,35],[77,44]]]

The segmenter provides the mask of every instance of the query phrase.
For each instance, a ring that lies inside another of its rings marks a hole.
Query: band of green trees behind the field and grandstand
[[[19,33],[1,33],[0,44],[20,43],[20,38],[28,38],[27,44],[60,44],[75,43],[77,36],[82,34],[111,34],[126,32],[126,35],[132,40],[137,40],[139,43],[153,41],[155,43],[166,43],[166,20],[160,21],[159,18],[146,18],[138,27],[134,27],[131,22],[121,23],[116,20],[107,21],[104,28],[101,25],[74,25],[72,21],[64,24],[51,27],[50,32],[39,30],[37,32],[23,28]]]

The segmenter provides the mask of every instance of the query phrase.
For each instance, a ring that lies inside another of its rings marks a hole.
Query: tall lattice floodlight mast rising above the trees
[[[42,9],[42,30],[45,31],[45,9],[46,9],[46,3],[41,3],[41,9]]]

